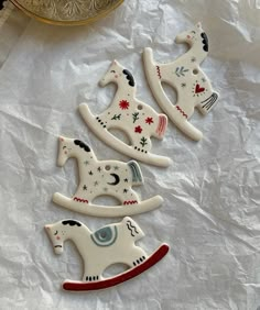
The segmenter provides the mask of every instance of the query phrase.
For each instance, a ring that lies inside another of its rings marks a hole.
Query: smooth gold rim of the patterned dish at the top
[[[118,0],[115,3],[115,5],[112,5],[111,8],[107,9],[107,10],[104,10],[102,12],[98,13],[94,18],[89,18],[89,19],[86,19],[86,20],[79,20],[79,21],[58,21],[58,20],[51,20],[51,19],[47,19],[47,18],[43,18],[41,15],[33,13],[32,11],[30,11],[30,10],[25,9],[23,5],[21,5],[17,0],[10,0],[10,1],[12,2],[13,5],[15,5],[18,9],[23,11],[30,18],[33,18],[33,19],[35,19],[40,22],[44,22],[44,23],[47,23],[47,24],[63,25],[63,26],[86,25],[86,24],[89,24],[89,23],[94,23],[94,22],[98,21],[99,19],[106,16],[107,14],[112,12],[113,10],[116,10],[123,2],[123,0]]]

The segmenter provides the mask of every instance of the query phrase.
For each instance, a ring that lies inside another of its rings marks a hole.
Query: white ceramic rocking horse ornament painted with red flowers
[[[101,86],[110,82],[118,85],[116,96],[109,108],[94,115],[86,103],[79,106],[79,112],[88,128],[106,144],[116,151],[140,162],[169,166],[171,159],[150,153],[151,136],[162,139],[167,126],[167,118],[158,114],[151,107],[136,98],[137,86],[132,74],[113,60],[109,70],[100,80]],[[112,135],[109,130],[124,132],[130,144]]]

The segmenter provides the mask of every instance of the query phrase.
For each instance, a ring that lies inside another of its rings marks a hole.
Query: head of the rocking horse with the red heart
[[[203,49],[205,52],[208,52],[208,40],[207,35],[204,32],[202,24],[197,23],[192,29],[180,33],[176,38],[176,43],[187,43],[189,46],[193,46],[194,44],[203,45]]]

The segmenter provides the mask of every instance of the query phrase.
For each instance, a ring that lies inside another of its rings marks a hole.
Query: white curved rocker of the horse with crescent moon
[[[59,192],[55,192],[53,195],[53,202],[72,211],[79,212],[86,215],[99,218],[115,218],[136,215],[152,211],[162,204],[163,198],[161,196],[154,196],[139,203],[127,206],[98,206],[75,201],[72,198],[67,198],[66,196],[63,196]]]

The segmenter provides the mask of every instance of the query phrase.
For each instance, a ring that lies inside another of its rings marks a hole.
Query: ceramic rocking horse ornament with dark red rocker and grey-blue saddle
[[[109,288],[129,280],[151,268],[169,252],[169,245],[162,244],[152,255],[134,244],[144,236],[139,225],[124,218],[120,223],[104,226],[91,232],[75,220],[63,220],[45,226],[54,252],[62,254],[64,242],[72,240],[83,258],[82,281],[65,280],[63,288],[73,291],[86,291]],[[109,266],[122,263],[129,269],[110,278],[102,274]]]

